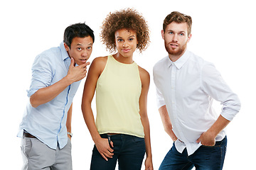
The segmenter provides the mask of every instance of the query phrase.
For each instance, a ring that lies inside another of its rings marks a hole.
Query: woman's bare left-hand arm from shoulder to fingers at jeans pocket
[[[100,74],[105,68],[106,62],[107,57],[97,57],[90,66],[88,76],[85,81],[84,92],[82,95],[82,115],[85,119],[87,128],[90,131],[92,140],[95,142],[95,146],[97,147],[98,152],[100,152],[100,155],[107,161],[114,155],[112,153],[114,150],[111,148],[114,147],[114,145],[113,142],[110,142],[110,147],[108,140],[100,137],[100,134],[97,131],[95,125],[95,119],[91,107],[92,98],[95,94],[97,79],[100,77]]]

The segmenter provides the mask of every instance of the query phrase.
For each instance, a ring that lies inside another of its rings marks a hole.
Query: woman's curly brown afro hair
[[[103,21],[101,28],[101,41],[110,52],[117,50],[114,33],[121,29],[134,30],[137,33],[139,52],[146,50],[149,45],[149,26],[144,17],[132,8],[122,9],[114,13],[110,12]]]

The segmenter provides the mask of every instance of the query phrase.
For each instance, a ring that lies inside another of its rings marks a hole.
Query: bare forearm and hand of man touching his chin
[[[90,62],[86,62],[85,64],[75,67],[75,60],[72,57],[67,76],[63,77],[63,79],[51,86],[47,86],[36,91],[36,93],[30,97],[31,106],[36,108],[41,104],[53,100],[53,98],[58,96],[58,94],[65,90],[65,88],[67,88],[70,84],[83,79],[86,76],[86,67],[89,64]]]

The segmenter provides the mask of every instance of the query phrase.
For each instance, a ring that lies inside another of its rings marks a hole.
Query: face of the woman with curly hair
[[[132,57],[137,48],[137,34],[134,30],[121,29],[114,33],[118,55]]]

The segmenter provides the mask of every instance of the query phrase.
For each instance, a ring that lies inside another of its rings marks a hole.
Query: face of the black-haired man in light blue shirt
[[[73,38],[70,47],[64,43],[65,50],[67,50],[69,57],[73,57],[75,63],[78,65],[85,64],[92,54],[92,38],[87,36],[85,38]]]

